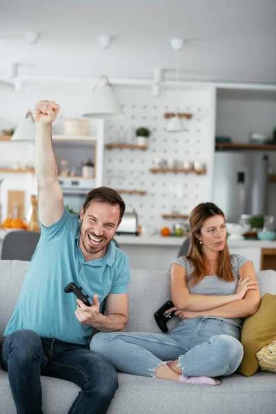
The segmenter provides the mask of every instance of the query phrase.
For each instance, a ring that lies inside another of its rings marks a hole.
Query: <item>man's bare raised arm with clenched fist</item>
[[[39,186],[39,220],[46,227],[59,221],[63,215],[63,194],[52,148],[52,123],[58,114],[59,105],[55,101],[39,101],[34,108],[34,170]]]

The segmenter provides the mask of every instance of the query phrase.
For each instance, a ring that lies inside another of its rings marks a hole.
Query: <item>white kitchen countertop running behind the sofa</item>
[[[0,240],[2,240],[8,232],[0,230]],[[132,244],[132,245],[151,245],[151,246],[181,246],[187,237],[161,237],[156,236],[128,236],[128,235],[115,235],[116,241],[119,245]],[[245,248],[276,248],[276,240],[273,242],[262,240],[231,240],[228,239],[227,244],[229,247],[245,247]]]

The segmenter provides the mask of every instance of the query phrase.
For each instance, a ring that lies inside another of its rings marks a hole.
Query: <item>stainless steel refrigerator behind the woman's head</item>
[[[215,153],[213,201],[237,223],[242,214],[266,215],[268,155],[253,151]]]

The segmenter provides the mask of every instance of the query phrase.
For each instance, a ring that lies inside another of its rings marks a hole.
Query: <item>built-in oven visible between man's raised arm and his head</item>
[[[59,184],[62,188],[64,205],[68,205],[79,215],[87,193],[95,188],[95,179],[59,177]]]

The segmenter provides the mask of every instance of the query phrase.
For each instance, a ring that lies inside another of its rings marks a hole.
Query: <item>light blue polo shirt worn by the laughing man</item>
[[[65,286],[75,282],[89,295],[90,302],[95,294],[99,295],[101,310],[109,293],[127,293],[128,257],[111,242],[106,255],[85,262],[79,248],[79,227],[77,217],[67,208],[57,223],[48,228],[41,226],[39,244],[5,336],[31,329],[40,337],[88,345],[92,326],[77,320],[77,297],[65,293]]]

